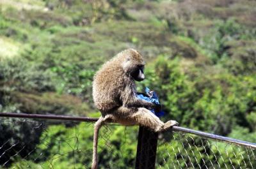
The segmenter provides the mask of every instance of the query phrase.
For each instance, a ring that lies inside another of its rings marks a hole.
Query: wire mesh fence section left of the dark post
[[[131,150],[125,135],[134,129],[112,124],[100,129],[99,168],[125,168],[123,161],[133,168],[136,145]],[[93,122],[0,117],[0,131],[0,168],[90,168]],[[122,139],[116,142],[119,133]],[[126,159],[124,151],[132,151],[132,158]]]

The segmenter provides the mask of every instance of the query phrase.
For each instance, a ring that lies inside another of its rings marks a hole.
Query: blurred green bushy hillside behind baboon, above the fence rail
[[[163,121],[256,142],[255,16],[250,0],[1,0],[0,112],[99,116],[95,71],[136,48],[147,61],[138,90],[159,94]],[[0,128],[0,145],[29,139],[17,131]]]

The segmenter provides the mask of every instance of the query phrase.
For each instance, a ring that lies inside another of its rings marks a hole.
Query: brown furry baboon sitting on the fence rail
[[[97,143],[99,129],[108,119],[125,126],[147,126],[159,132],[178,124],[162,122],[150,110],[161,106],[136,98],[135,80],[145,79],[145,62],[136,50],[129,48],[106,62],[93,78],[93,101],[102,116],[95,123],[93,137],[92,169],[97,169]]]

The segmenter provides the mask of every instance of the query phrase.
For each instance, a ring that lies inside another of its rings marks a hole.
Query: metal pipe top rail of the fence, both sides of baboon
[[[95,117],[74,117],[68,115],[43,115],[43,114],[14,114],[14,113],[0,113],[0,117],[18,117],[28,119],[52,119],[52,120],[66,120],[66,121],[83,121],[83,122],[96,122],[98,118]],[[211,138],[212,140],[218,140],[221,142],[235,143],[237,145],[244,145],[256,149],[256,143],[244,142],[234,138],[228,138],[226,136],[214,135],[211,133],[205,133],[203,131],[196,131],[194,129],[182,128],[179,126],[173,126],[173,131],[181,131],[184,133],[191,133],[193,135],[202,136],[204,138]]]

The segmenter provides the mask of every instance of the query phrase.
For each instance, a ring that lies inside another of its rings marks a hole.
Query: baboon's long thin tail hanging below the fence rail
[[[98,138],[100,127],[104,124],[107,119],[110,119],[111,115],[106,115],[105,117],[100,117],[97,122],[94,124],[94,133],[93,133],[93,157],[92,157],[92,169],[98,168],[98,158],[97,158],[97,149],[98,149]]]

